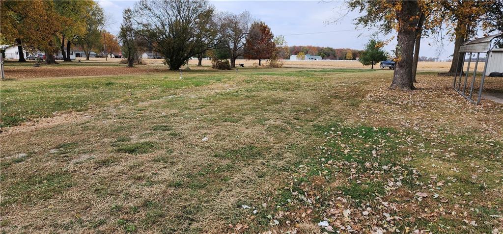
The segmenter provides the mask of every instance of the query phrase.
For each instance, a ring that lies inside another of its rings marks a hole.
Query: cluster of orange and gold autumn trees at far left
[[[44,51],[47,63],[55,63],[61,53],[71,61],[72,46],[85,52],[112,54],[120,51],[117,38],[104,30],[106,17],[94,1],[2,1],[0,2],[2,44],[18,46],[19,61],[26,61],[23,50]],[[104,49],[107,49],[106,51]]]

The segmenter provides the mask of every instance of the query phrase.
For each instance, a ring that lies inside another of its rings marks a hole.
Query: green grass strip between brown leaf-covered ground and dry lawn
[[[0,92],[0,127],[51,117],[58,112],[85,111],[90,106],[108,106],[111,102],[131,105],[163,97],[169,90],[203,86],[228,79],[225,75],[201,71],[190,73],[184,79],[179,79],[176,73],[165,77],[167,78],[161,79],[160,75],[124,75],[3,82]]]

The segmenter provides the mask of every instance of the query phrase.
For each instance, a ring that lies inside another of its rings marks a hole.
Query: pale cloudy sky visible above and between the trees
[[[133,8],[135,1],[99,0],[110,18],[107,28],[117,34],[122,21],[122,10]],[[375,30],[357,29],[353,19],[358,13],[348,13],[342,1],[211,1],[218,11],[240,13],[248,11],[258,20],[266,22],[274,35],[284,35],[288,45],[329,46],[333,48],[363,49]],[[337,20],[333,23],[334,20]],[[327,23],[332,22],[332,23]],[[392,35],[380,35],[386,40]],[[420,56],[447,59],[452,55],[453,43],[445,39],[423,39]],[[443,44],[443,46],[441,46]],[[391,51],[392,40],[386,46]]]

